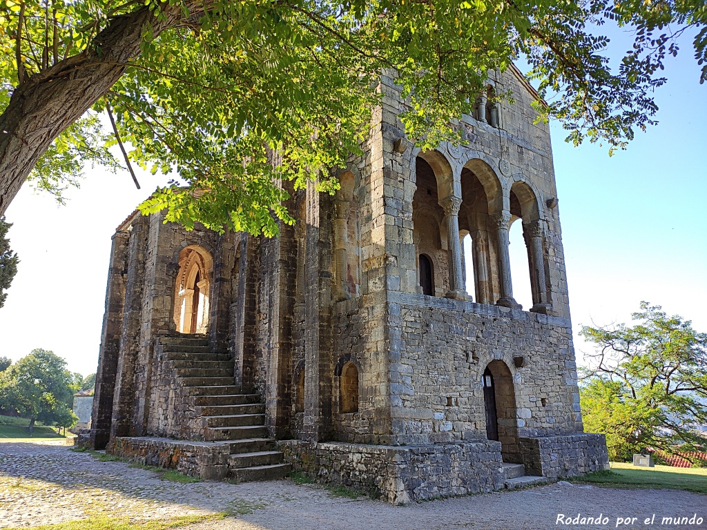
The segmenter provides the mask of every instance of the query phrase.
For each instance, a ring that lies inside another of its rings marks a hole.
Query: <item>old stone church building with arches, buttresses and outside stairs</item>
[[[481,97],[460,119],[466,143],[419,151],[382,77],[363,155],[337,194],[291,192],[279,237],[124,220],[81,443],[211,479],[296,469],[394,503],[607,468],[583,432],[549,126],[515,69],[489,86],[508,89],[513,104]]]

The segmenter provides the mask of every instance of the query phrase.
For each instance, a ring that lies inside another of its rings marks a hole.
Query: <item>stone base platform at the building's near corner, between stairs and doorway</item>
[[[344,485],[394,505],[498,490],[501,443],[491,440],[418,446],[344,442],[278,442],[293,470],[329,485]]]

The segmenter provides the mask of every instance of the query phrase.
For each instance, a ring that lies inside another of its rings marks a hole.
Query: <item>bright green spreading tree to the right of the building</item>
[[[703,452],[707,439],[707,334],[641,302],[635,326],[583,326],[597,345],[580,387],[585,429],[607,436],[609,458],[648,448]]]

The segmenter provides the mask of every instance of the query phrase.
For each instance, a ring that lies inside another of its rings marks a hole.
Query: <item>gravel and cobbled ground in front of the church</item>
[[[214,512],[233,517],[189,530],[541,530],[617,528],[617,523],[621,529],[707,529],[707,496],[684,491],[559,483],[394,507],[377,500],[332,497],[325,488],[291,481],[180,484],[124,462],[101,462],[71,452],[56,442],[0,442],[0,528],[92,514],[168,519]],[[601,524],[557,524],[558,514],[569,520],[578,514],[607,519]],[[645,524],[653,514],[653,523]],[[661,524],[662,517],[693,514],[703,523]]]

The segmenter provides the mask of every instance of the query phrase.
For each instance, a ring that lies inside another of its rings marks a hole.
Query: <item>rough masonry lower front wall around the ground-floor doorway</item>
[[[399,307],[402,378],[392,388],[397,442],[486,437],[481,375],[492,360],[503,361],[513,376],[518,435],[581,432],[565,319],[423,295],[402,295]],[[525,365],[516,367],[515,357]]]

